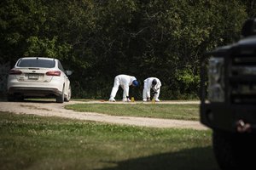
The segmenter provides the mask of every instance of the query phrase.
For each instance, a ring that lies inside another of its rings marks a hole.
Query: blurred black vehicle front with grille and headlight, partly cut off
[[[256,168],[256,19],[241,36],[201,60],[201,123],[221,169]]]

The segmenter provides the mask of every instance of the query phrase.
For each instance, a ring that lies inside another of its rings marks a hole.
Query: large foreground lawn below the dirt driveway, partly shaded
[[[217,170],[211,133],[0,112],[0,169]]]

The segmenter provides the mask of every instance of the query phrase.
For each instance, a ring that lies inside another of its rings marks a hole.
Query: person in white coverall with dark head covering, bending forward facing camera
[[[154,101],[158,102],[160,101],[159,95],[160,95],[160,87],[161,82],[156,77],[148,77],[144,80],[144,88],[143,88],[143,101],[149,101],[150,100],[150,89],[153,90],[154,93]]]

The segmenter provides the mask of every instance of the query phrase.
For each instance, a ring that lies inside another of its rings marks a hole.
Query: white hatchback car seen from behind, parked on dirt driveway
[[[70,81],[58,59],[27,57],[18,59],[9,71],[8,100],[54,97],[57,103],[71,99]]]

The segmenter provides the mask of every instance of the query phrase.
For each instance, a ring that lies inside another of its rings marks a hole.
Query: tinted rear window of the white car
[[[43,67],[43,68],[53,68],[55,67],[55,60],[49,59],[20,59],[17,64],[19,67]]]

